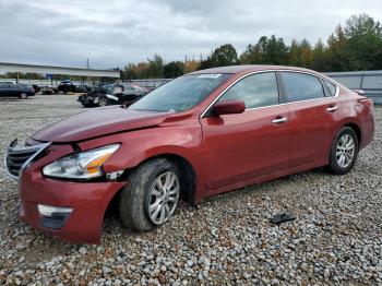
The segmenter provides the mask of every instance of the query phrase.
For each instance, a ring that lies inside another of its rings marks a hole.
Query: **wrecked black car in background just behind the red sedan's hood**
[[[131,83],[106,84],[79,96],[77,100],[84,107],[121,104],[129,106],[147,93],[148,90]]]

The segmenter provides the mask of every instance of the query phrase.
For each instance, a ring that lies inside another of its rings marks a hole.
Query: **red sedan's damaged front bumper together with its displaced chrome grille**
[[[44,144],[44,148],[41,145],[35,146],[38,153],[33,153],[32,159],[27,159],[17,172],[11,172],[10,154],[15,150],[23,154],[25,148],[32,148],[13,144],[5,155],[8,175],[19,179],[20,218],[51,237],[71,242],[99,243],[106,208],[126,182],[80,182],[46,178],[41,172],[43,167],[73,153],[73,148],[71,145]]]

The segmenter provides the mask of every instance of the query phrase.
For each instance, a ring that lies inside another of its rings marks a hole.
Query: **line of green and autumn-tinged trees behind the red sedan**
[[[165,63],[159,55],[140,63],[129,63],[121,71],[122,80],[177,78],[194,70],[232,64],[280,64],[317,71],[382,70],[382,27],[367,14],[353,15],[343,27],[338,25],[324,43],[308,39],[291,40],[262,36],[238,55],[231,44],[214,49],[200,60]]]

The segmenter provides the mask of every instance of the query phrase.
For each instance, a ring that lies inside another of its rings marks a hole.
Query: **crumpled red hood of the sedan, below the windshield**
[[[91,109],[37,131],[32,139],[51,142],[77,142],[111,133],[154,127],[170,114],[131,110],[120,106]]]

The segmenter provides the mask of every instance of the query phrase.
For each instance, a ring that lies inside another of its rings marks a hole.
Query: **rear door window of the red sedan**
[[[282,72],[282,81],[288,103],[325,97],[320,80],[313,75]]]

